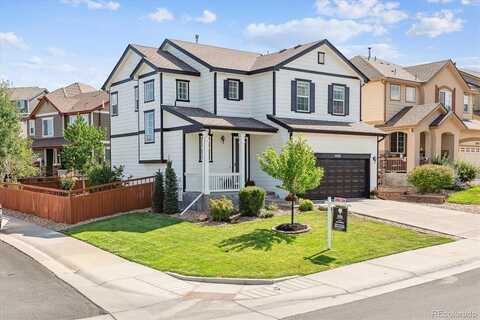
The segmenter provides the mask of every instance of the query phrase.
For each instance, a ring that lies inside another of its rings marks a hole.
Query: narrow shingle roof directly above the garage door
[[[296,119],[269,116],[273,122],[278,123],[287,129],[298,132],[319,132],[319,133],[343,133],[343,134],[363,134],[363,135],[384,135],[384,133],[374,126],[365,122],[340,122],[324,121],[312,119]]]

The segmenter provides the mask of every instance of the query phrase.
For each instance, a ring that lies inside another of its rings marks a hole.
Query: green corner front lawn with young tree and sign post
[[[326,251],[325,213],[299,214],[312,231],[283,235],[280,216],[233,225],[200,225],[165,215],[127,214],[69,230],[75,238],[146,266],[185,275],[275,278],[306,275],[354,262],[452,241],[380,222],[349,217]]]

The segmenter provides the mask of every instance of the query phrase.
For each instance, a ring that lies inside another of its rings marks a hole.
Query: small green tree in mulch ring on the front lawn
[[[292,201],[291,225],[294,224],[294,204],[298,195],[320,185],[323,169],[316,166],[316,158],[305,139],[290,139],[280,154],[268,148],[258,158],[260,168],[281,181],[280,188],[290,192]]]

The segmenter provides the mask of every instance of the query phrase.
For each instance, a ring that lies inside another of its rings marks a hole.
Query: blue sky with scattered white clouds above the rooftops
[[[257,52],[328,38],[347,57],[451,58],[480,70],[480,0],[38,0],[0,3],[0,79],[100,87],[128,43],[164,38]]]

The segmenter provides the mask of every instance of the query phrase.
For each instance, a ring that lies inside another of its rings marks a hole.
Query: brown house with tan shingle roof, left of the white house
[[[68,144],[64,130],[77,117],[106,131],[106,158],[109,158],[108,95],[89,85],[73,83],[43,96],[28,119],[28,135],[32,149],[38,154],[42,175],[51,176],[61,168],[61,151]]]

